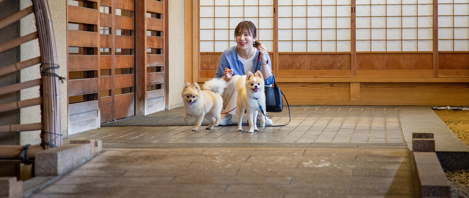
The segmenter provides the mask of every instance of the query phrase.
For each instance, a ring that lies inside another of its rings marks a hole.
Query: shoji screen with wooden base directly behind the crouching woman
[[[234,29],[242,21],[257,27],[257,39],[274,51],[273,0],[200,0],[200,73],[215,76],[221,53],[236,46]]]

